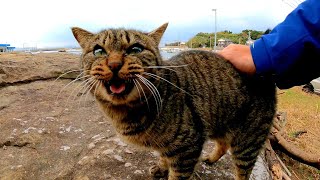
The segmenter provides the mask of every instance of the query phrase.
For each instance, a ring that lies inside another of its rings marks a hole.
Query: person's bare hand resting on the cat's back
[[[256,73],[256,66],[253,62],[250,47],[241,44],[230,44],[219,55],[227,59],[241,72],[253,75]]]

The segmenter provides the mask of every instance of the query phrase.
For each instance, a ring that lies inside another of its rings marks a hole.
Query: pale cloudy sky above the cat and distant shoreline
[[[302,0],[6,0],[0,3],[0,44],[15,47],[78,46],[70,28],[145,32],[169,22],[161,44],[188,41],[199,32],[265,31]]]

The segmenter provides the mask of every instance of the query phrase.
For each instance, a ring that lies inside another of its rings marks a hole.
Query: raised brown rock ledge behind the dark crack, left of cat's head
[[[0,56],[0,87],[57,78],[64,73],[61,78],[74,79],[79,74],[78,62],[79,56],[72,54],[3,54]]]

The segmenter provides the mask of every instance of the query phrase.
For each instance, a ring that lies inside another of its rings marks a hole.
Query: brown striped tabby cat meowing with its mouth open
[[[275,85],[239,73],[209,51],[181,52],[163,61],[158,48],[168,24],[145,33],[72,28],[91,92],[127,142],[160,153],[154,177],[190,179],[206,140],[214,163],[228,149],[236,179],[249,179],[275,113]]]

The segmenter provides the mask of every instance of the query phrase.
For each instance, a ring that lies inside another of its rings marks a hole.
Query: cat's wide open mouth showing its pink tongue
[[[127,95],[133,89],[133,81],[132,80],[123,80],[120,78],[114,78],[108,82],[104,83],[104,86],[107,89],[107,92],[111,95],[123,96]]]

